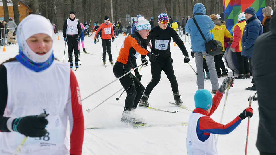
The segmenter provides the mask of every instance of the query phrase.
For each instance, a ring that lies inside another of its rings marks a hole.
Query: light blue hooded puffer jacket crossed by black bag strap
[[[210,30],[215,27],[214,22],[209,16],[205,16],[206,9],[202,3],[197,3],[194,5],[194,18],[198,26],[200,27],[204,37],[207,41],[212,40]],[[196,13],[201,13],[196,15]],[[205,41],[203,40],[194,20],[192,18],[188,19],[185,31],[191,35],[191,44],[193,52],[206,52]]]

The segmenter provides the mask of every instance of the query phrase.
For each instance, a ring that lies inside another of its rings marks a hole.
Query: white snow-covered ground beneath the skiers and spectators
[[[60,40],[57,40],[58,36]],[[117,59],[125,37],[121,34],[111,44],[113,62]],[[54,55],[60,61],[63,60],[65,46],[62,38],[62,34],[56,34],[54,40]],[[85,37],[84,44],[86,51],[94,55],[81,54],[80,68],[74,71],[80,86],[82,98],[87,97],[116,79],[113,74],[113,66],[107,62],[107,67],[105,68],[102,64],[101,40],[95,45],[93,39],[94,34],[91,37]],[[191,45],[185,43],[185,46],[190,55]],[[174,46],[172,42],[170,48],[181,99],[185,106],[194,109],[194,93],[197,90],[196,75],[188,64],[184,64],[184,56],[178,46]],[[0,63],[17,55],[18,46],[6,46],[7,52],[2,52],[2,50],[3,46],[0,46]],[[81,45],[80,52],[82,52]],[[190,59],[190,64],[196,69],[194,58],[190,57]],[[67,45],[64,61],[68,62]],[[141,58],[137,59],[137,64],[141,64]],[[150,66],[143,67],[140,70],[140,74],[142,74],[141,83],[146,87],[151,80]],[[231,76],[232,71],[228,75]],[[220,85],[223,79],[218,78]],[[251,79],[234,81],[234,87],[228,93],[222,121],[223,124],[232,121],[232,119],[248,107],[248,97],[255,94],[255,91],[245,90],[245,87],[249,86],[252,86]],[[137,117],[142,118],[150,127],[145,126],[135,129],[120,122],[126,93],[124,92],[118,101],[116,101],[116,98],[119,97],[123,90],[119,91],[90,113],[86,111],[88,108],[93,109],[121,88],[122,86],[119,80],[117,80],[82,102],[85,127],[103,127],[103,129],[85,130],[82,154],[186,154],[187,126],[181,126],[179,124],[180,122],[188,122],[191,112],[169,104],[169,102],[173,102],[174,100],[169,80],[164,72],[161,73],[159,84],[150,94],[149,104],[154,108],[167,111],[178,110],[178,112],[167,113],[137,107],[135,111]],[[210,80],[205,81],[205,89],[211,91]],[[222,98],[218,109],[211,116],[215,121],[220,121],[225,96],[226,94]],[[259,122],[257,101],[252,103],[252,108],[254,109],[254,115],[250,119],[247,153],[257,155],[259,154],[255,146]],[[217,144],[218,153],[224,155],[244,154],[246,132],[247,119],[243,120],[230,134],[220,135]]]

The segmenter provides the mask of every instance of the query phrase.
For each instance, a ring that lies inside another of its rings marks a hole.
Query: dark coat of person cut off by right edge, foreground
[[[271,17],[269,23],[270,32],[267,32],[257,38],[252,56],[253,75],[258,92],[260,117],[256,146],[261,152],[269,152],[274,154],[276,153],[275,25],[276,16]]]

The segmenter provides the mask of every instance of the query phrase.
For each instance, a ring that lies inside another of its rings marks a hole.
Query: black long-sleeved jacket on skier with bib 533
[[[169,26],[167,26],[165,30],[161,29],[159,25],[153,27],[151,29],[151,32],[149,32],[149,36],[147,37],[147,39],[143,41],[143,47],[147,48],[149,41],[151,40],[151,46],[152,46],[151,52],[154,53],[155,55],[159,54],[159,56],[157,57],[157,60],[164,60],[167,58],[171,58],[171,52],[170,52],[171,38],[174,39],[174,41],[182,51],[183,55],[188,56],[188,52],[186,50],[185,45],[183,44],[183,41],[179,38],[176,31]],[[167,43],[168,47],[166,50],[159,50],[157,49],[158,47],[157,48],[155,47],[155,44],[158,43],[158,40],[169,40],[169,42]],[[143,55],[142,57],[145,57],[145,55]]]

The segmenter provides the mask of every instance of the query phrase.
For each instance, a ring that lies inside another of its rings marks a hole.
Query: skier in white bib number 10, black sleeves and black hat
[[[70,17],[66,19],[63,24],[63,38],[67,42],[68,46],[68,57],[70,62],[70,68],[73,68],[73,47],[75,54],[75,66],[79,67],[79,51],[78,51],[78,40],[80,38],[82,28],[80,27],[80,22],[75,18],[76,12],[74,10],[70,11]]]

